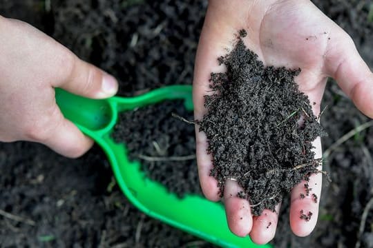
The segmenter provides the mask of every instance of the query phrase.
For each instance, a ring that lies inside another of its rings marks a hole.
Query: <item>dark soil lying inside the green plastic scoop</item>
[[[194,125],[174,118],[193,120],[183,101],[164,101],[119,114],[113,138],[124,143],[131,161],[140,161],[149,178],[182,197],[201,194],[195,161]]]

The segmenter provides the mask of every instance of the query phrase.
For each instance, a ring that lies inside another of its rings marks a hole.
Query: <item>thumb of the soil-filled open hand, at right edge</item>
[[[327,73],[336,79],[361,112],[373,118],[373,73],[356,50],[348,34],[331,37],[325,64]]]

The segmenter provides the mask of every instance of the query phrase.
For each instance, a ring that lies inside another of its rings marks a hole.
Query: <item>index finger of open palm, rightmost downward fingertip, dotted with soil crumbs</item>
[[[313,145],[316,147],[315,158],[321,158],[321,138],[316,138]],[[316,226],[322,179],[321,173],[313,174],[308,182],[303,180],[291,191],[289,218],[291,230],[296,236],[307,236]]]

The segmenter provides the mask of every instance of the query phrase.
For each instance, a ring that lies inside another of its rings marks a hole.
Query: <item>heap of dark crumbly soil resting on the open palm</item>
[[[205,96],[207,113],[198,123],[207,134],[220,192],[227,179],[237,180],[243,189],[238,196],[249,200],[257,216],[274,211],[284,194],[318,172],[312,141],[325,132],[294,82],[300,70],[265,67],[241,37],[218,59],[227,72],[211,73],[214,93]]]

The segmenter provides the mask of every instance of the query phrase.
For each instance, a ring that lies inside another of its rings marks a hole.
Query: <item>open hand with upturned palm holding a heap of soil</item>
[[[320,113],[327,77],[331,76],[359,110],[373,117],[372,72],[359,56],[348,34],[311,1],[211,0],[195,62],[195,119],[201,119],[205,112],[203,96],[211,90],[210,73],[224,70],[218,65],[218,57],[227,53],[226,48],[232,48],[235,35],[242,28],[247,30],[247,37],[244,38],[247,48],[256,52],[265,65],[302,70],[296,82],[309,101],[316,103],[312,106],[316,116]],[[210,200],[219,200],[217,182],[209,176],[213,163],[206,152],[207,138],[198,132],[198,127],[196,138],[202,191]],[[316,158],[321,158],[320,138],[314,141],[314,147]],[[310,178],[309,185],[312,185],[312,193],[316,196],[321,194],[321,179],[321,174]],[[266,209],[261,216],[253,218],[249,202],[235,197],[239,191],[235,182],[227,181],[224,205],[229,228],[238,236],[249,234],[258,244],[269,242],[276,232],[280,206],[277,206],[276,212]],[[290,225],[297,236],[307,236],[316,225],[318,203],[314,203],[311,195],[300,199],[300,193],[305,194],[304,182],[291,192]],[[300,219],[301,209],[314,214],[309,222]]]

